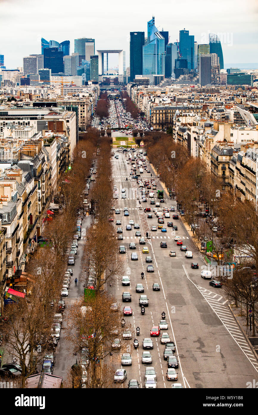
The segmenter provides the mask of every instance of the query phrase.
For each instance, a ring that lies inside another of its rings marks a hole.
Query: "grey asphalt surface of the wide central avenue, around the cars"
[[[130,353],[133,361],[132,366],[123,366],[127,370],[127,380],[123,387],[127,387],[130,379],[136,378],[141,387],[145,386],[145,367],[154,366],[157,372],[157,387],[169,388],[171,381],[166,380],[167,362],[163,359],[165,346],[160,343],[160,337],[152,337],[153,350],[152,364],[146,365],[141,362],[142,340],[150,337],[150,330],[154,325],[159,324],[162,311],[166,313],[167,331],[171,340],[176,344],[175,356],[178,359],[178,383],[184,388],[246,388],[247,382],[252,382],[258,374],[257,359],[253,355],[248,343],[240,328],[236,324],[234,316],[227,306],[227,300],[223,296],[223,288],[213,288],[209,285],[210,280],[203,280],[200,276],[201,267],[205,266],[202,255],[197,251],[186,232],[181,220],[171,218],[164,219],[166,222],[171,220],[178,226],[176,235],[179,235],[183,244],[188,250],[193,251],[193,259],[185,257],[185,253],[180,251],[180,247],[174,241],[175,233],[171,227],[167,227],[167,232],[150,232],[151,238],[146,239],[145,245],[139,244],[139,237],[135,237],[136,230],[126,230],[129,220],[134,220],[140,224],[142,237],[152,225],[158,225],[157,217],[153,213],[152,219],[147,219],[147,213],[139,209],[139,202],[135,199],[135,189],[137,183],[131,179],[131,164],[127,164],[127,156],[119,153],[119,159],[113,158],[113,179],[114,184],[119,189],[119,199],[117,206],[121,213],[114,214],[114,227],[116,233],[116,219],[122,221],[124,239],[121,245],[125,245],[127,251],[121,254],[124,261],[124,275],[130,276],[130,287],[122,286],[121,277],[114,281],[109,291],[116,296],[118,302],[130,305],[133,308],[133,316],[125,317],[130,320],[136,328],[140,327],[139,348],[133,348],[133,339],[128,340]],[[147,162],[149,166],[149,163]],[[150,168],[150,166],[149,166]],[[157,189],[162,189],[158,178],[150,168],[152,177],[155,178]],[[128,177],[128,181],[125,181]],[[141,174],[141,178],[150,178],[150,173]],[[126,188],[127,198],[121,199],[121,188]],[[164,206],[174,206],[176,200],[169,200],[164,194]],[[154,200],[157,201],[157,193],[154,190]],[[123,207],[128,207],[129,216],[123,215]],[[147,203],[142,203],[142,207],[150,206],[150,199]],[[133,228],[133,227],[132,227]],[[160,242],[166,241],[168,247],[161,248]],[[135,242],[138,261],[132,261],[130,256],[135,250],[129,249],[129,243]],[[142,247],[149,248],[149,254],[142,253]],[[174,249],[176,257],[170,257],[169,251]],[[145,257],[152,256],[154,273],[147,273]],[[199,269],[191,269],[190,263],[197,261]],[[145,272],[142,280],[140,274]],[[157,282],[161,286],[160,291],[153,291],[152,284]],[[145,294],[149,298],[149,306],[145,308],[145,315],[141,315],[139,306],[140,293],[135,292],[137,283],[143,283]],[[122,303],[123,291],[132,294],[131,303]],[[133,333],[135,337],[135,333]],[[114,372],[121,368],[121,360],[118,355],[112,356]]]

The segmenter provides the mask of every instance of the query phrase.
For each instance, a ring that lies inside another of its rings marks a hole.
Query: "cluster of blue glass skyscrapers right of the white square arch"
[[[159,31],[154,16],[147,22],[145,32],[130,32],[130,81],[136,78],[154,79],[199,76],[201,85],[219,82],[224,68],[222,47],[216,34],[209,35],[208,44],[199,44],[185,28],[179,32],[179,41],[170,42],[169,32]],[[156,78],[155,78],[156,77]]]

